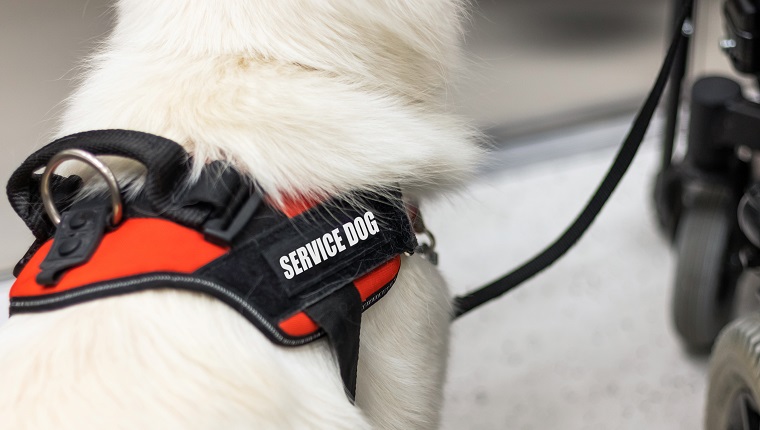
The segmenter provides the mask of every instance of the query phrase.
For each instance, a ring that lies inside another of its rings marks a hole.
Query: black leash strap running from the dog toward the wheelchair
[[[628,132],[628,136],[626,136],[625,141],[623,142],[623,146],[618,151],[615,161],[607,171],[607,175],[591,197],[591,200],[586,204],[586,207],[583,208],[583,211],[581,211],[570,227],[568,227],[567,230],[554,241],[554,243],[522,266],[467,295],[456,297],[454,299],[454,318],[459,318],[467,312],[501,296],[539,274],[559,260],[560,257],[578,242],[586,230],[588,230],[591,223],[596,219],[596,216],[599,215],[602,207],[604,207],[604,204],[607,203],[612,192],[615,191],[615,188],[618,183],[620,183],[620,180],[628,170],[628,167],[631,165],[633,157],[636,155],[636,152],[644,139],[647,128],[649,128],[649,124],[652,122],[652,116],[657,108],[657,104],[662,98],[665,85],[668,82],[668,77],[671,75],[671,70],[673,69],[676,60],[676,54],[679,52],[680,47],[688,40],[688,36],[684,35],[681,29],[689,16],[689,11],[692,9],[692,5],[693,0],[684,1],[684,7],[681,9],[683,13],[676,21],[676,31],[673,35],[670,48],[668,49],[667,56],[662,64],[660,74],[655,81],[654,87],[650,91],[646,102],[639,110],[636,120],[633,122],[633,126]]]

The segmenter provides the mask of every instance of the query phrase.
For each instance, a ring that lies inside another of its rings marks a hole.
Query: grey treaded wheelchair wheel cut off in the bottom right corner
[[[760,429],[760,314],[721,333],[710,360],[707,430]]]

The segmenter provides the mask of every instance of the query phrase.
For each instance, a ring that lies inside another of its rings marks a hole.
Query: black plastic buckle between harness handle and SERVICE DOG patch
[[[230,202],[229,209],[225,210],[221,216],[203,224],[203,237],[217,245],[231,245],[233,239],[245,228],[263,201],[264,198],[258,189],[251,192],[247,187],[241,187],[241,191],[236,193],[235,198]]]

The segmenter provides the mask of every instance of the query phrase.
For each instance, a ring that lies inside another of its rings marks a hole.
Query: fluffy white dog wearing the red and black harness
[[[462,3],[120,0],[59,134],[163,136],[273,199],[397,184],[425,197],[478,158],[445,113]],[[201,294],[16,315],[0,328],[0,428],[432,429],[450,314],[436,269],[404,257],[363,315],[356,406],[326,341],[275,346]]]

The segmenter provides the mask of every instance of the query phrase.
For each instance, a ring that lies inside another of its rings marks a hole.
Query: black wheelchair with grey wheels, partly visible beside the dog
[[[760,86],[760,0],[724,0],[722,10],[721,46],[732,67]],[[736,309],[744,300],[740,280],[760,269],[760,103],[734,79],[699,78],[691,87],[686,151],[673,160],[687,55],[685,50],[678,88],[671,90],[654,192],[660,226],[677,256],[673,321],[687,349],[712,348],[706,428],[756,430],[760,312],[739,315]],[[755,284],[760,304],[760,282]]]

